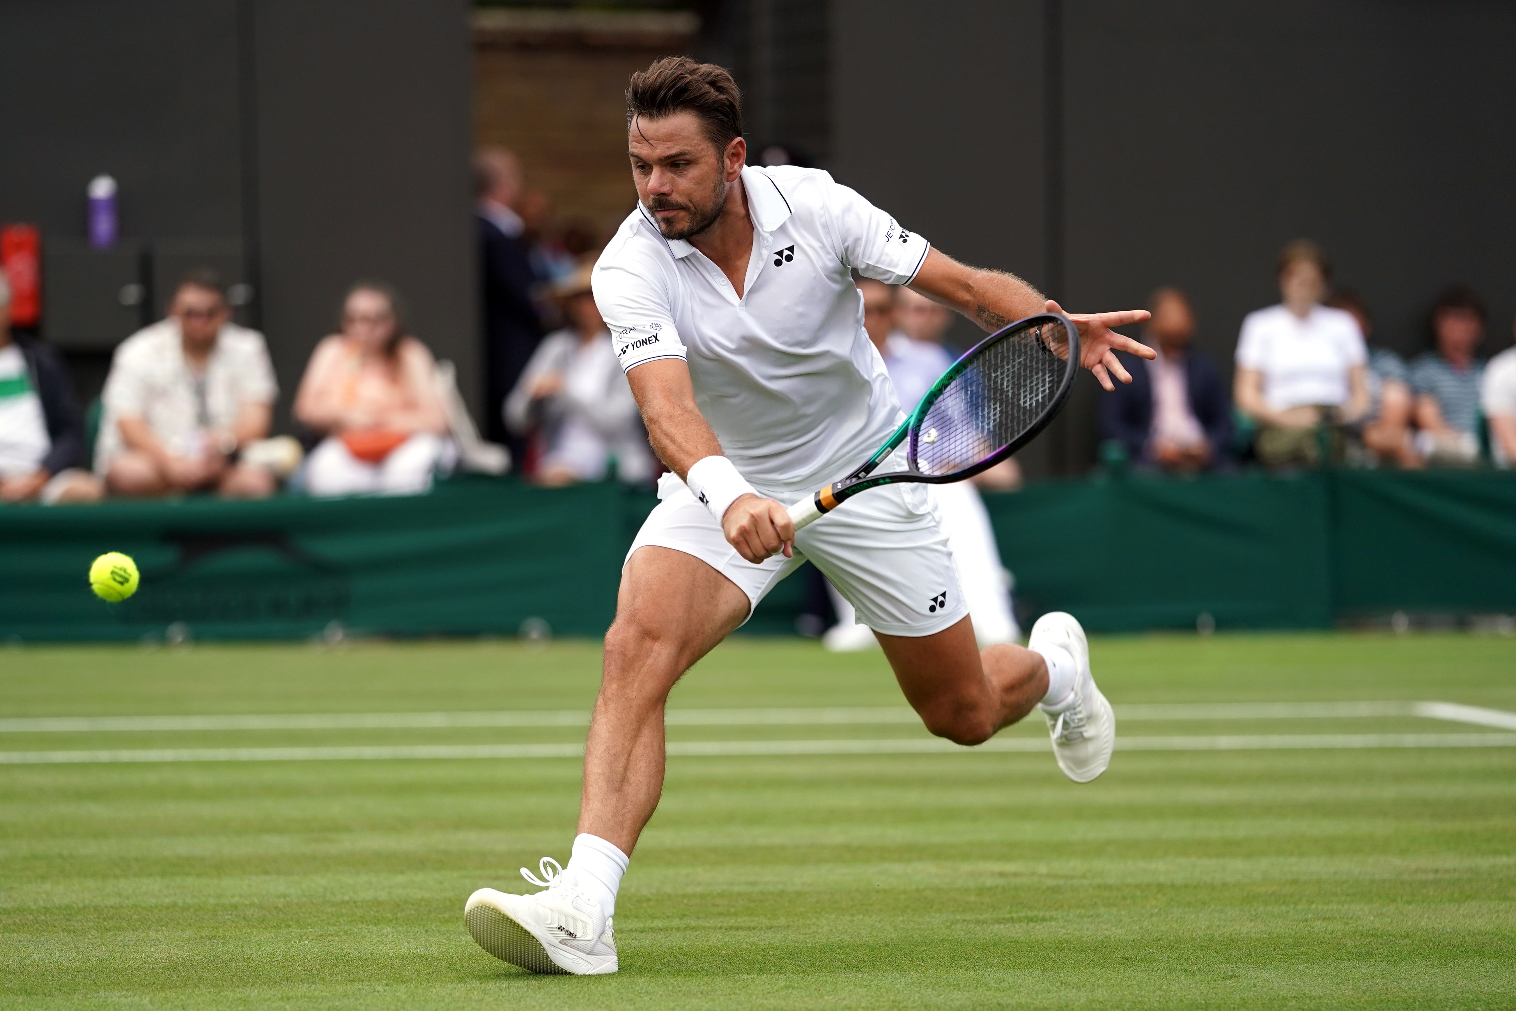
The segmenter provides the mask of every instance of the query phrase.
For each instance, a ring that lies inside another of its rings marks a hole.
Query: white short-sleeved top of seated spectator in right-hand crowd
[[[1352,314],[1320,305],[1304,320],[1283,305],[1249,312],[1237,338],[1237,365],[1263,373],[1270,411],[1348,403],[1348,373],[1367,361]]]

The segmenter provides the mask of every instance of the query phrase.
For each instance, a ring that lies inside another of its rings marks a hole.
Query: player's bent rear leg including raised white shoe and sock
[[[1069,779],[1090,782],[1110,764],[1116,715],[1095,685],[1090,646],[1073,615],[1037,618],[1028,649],[976,649],[969,618],[920,638],[879,635],[879,644],[932,734],[981,744],[1040,706]]]

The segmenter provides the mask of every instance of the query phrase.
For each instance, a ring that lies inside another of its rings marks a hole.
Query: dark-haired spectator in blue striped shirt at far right
[[[1480,376],[1474,358],[1484,341],[1484,300],[1461,285],[1443,291],[1431,308],[1433,349],[1411,362],[1416,440],[1428,462],[1472,464],[1480,458]]]

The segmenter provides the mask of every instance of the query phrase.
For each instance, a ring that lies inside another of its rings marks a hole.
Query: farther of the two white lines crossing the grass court
[[[1420,715],[1516,731],[1516,712],[1455,702],[1175,702],[1116,706],[1117,720],[1298,720]],[[917,723],[904,706],[669,709],[670,726],[807,726]],[[83,715],[0,720],[0,734],[97,731],[350,731],[490,726],[588,726],[581,709],[505,712],[285,712],[264,715]]]

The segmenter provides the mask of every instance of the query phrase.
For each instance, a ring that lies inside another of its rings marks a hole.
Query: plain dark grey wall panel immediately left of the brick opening
[[[482,397],[464,0],[258,0],[258,243],[285,403],[344,290],[394,283]]]

